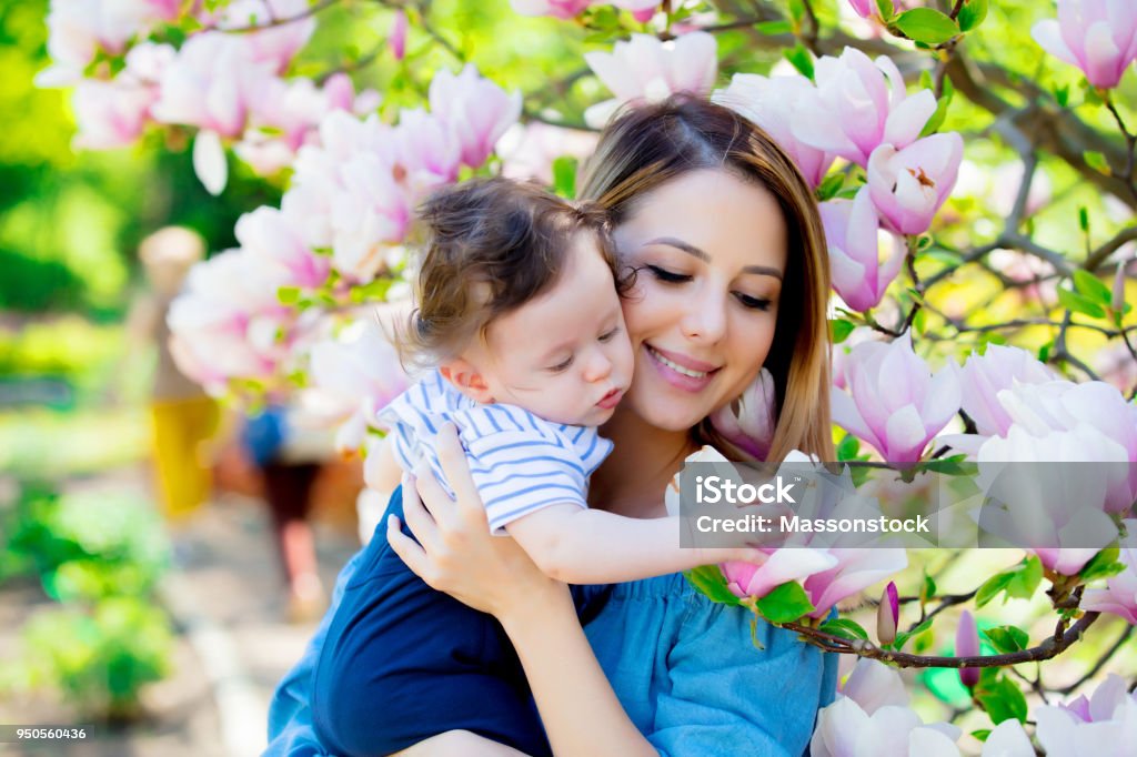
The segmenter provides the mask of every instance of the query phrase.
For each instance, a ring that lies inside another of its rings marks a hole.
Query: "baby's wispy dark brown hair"
[[[432,194],[418,217],[428,239],[416,307],[395,334],[404,365],[438,365],[459,355],[495,319],[547,291],[576,234],[595,236],[619,291],[630,285],[616,274],[607,214],[536,183],[474,178]]]

